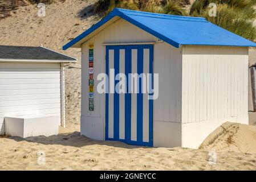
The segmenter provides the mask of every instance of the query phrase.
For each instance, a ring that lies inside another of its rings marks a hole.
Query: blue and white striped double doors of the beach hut
[[[127,78],[125,93],[109,92],[105,96],[106,140],[119,140],[140,146],[153,145],[153,100],[148,100],[148,92],[141,92],[141,79],[139,93],[127,91],[132,88],[128,83],[129,73],[152,73],[152,61],[152,45],[106,46],[106,73],[109,83],[113,82],[110,69],[115,69],[115,76],[124,73]],[[115,80],[115,87],[118,82],[119,80]],[[111,89],[113,88],[109,86],[109,90]]]

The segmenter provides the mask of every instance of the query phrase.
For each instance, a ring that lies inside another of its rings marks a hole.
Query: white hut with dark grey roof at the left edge
[[[64,63],[45,47],[0,46],[0,134],[58,134],[65,126]]]

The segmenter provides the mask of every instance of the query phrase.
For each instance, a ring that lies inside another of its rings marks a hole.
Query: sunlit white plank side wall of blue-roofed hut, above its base
[[[246,116],[247,70],[247,47],[183,46],[182,123]]]

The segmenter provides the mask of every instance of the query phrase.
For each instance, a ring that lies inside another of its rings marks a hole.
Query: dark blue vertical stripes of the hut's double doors
[[[131,49],[137,49],[137,73],[143,73],[143,49],[149,48],[149,73],[153,71],[153,45],[140,46],[106,46],[106,74],[109,75],[109,49],[114,50],[114,68],[115,75],[119,73],[119,50],[125,49],[125,75],[128,77],[132,73]],[[114,94],[114,137],[108,138],[108,94],[105,94],[105,140],[118,140],[128,144],[140,146],[153,146],[153,100],[149,100],[149,142],[143,142],[143,93],[141,93],[141,79],[139,84],[140,93],[137,93],[137,141],[131,140],[131,93],[125,93],[125,139],[119,139],[119,94]],[[115,85],[118,80],[115,81]],[[128,91],[128,79],[127,79]]]

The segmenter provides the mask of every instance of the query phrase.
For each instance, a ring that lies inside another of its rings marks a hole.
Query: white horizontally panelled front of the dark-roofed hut
[[[60,64],[0,63],[0,134],[5,117],[60,118]]]

